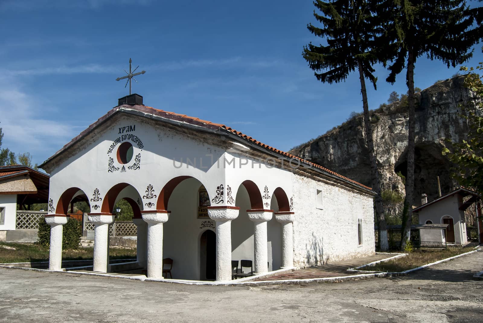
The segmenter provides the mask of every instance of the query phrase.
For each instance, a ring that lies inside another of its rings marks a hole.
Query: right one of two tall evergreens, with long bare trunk
[[[382,0],[376,11],[384,17],[387,37],[385,54],[392,59],[386,81],[394,84],[396,75],[406,71],[408,86],[408,169],[403,210],[401,250],[410,237],[414,199],[414,66],[418,57],[439,59],[449,68],[472,56],[471,46],[482,35],[482,10],[469,9],[464,0]],[[473,27],[476,21],[476,27]]]

